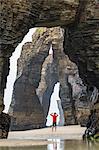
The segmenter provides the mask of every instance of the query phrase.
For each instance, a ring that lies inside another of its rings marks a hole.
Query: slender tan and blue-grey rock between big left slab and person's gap
[[[41,81],[37,88],[37,95],[41,101],[44,111],[45,123],[49,112],[51,95],[57,82],[58,76],[56,64],[53,59],[53,54],[49,54],[42,65]]]

